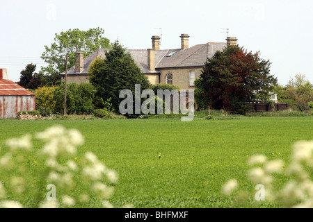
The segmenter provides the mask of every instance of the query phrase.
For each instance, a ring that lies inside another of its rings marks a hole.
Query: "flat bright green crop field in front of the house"
[[[288,162],[291,145],[313,139],[313,117],[0,121],[6,139],[60,124],[86,138],[77,156],[93,151],[119,180],[111,203],[122,207],[234,207],[220,193],[231,178],[253,190],[247,160],[262,153]],[[37,144],[39,146],[39,144]],[[158,157],[161,153],[161,158]],[[1,153],[0,153],[1,154]],[[28,157],[29,160],[31,156]],[[36,160],[40,163],[40,160]],[[1,169],[0,169],[1,171]],[[285,178],[275,183],[280,187]],[[279,207],[262,202],[257,207]]]

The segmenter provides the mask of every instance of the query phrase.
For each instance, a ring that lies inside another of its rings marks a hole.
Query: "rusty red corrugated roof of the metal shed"
[[[24,89],[22,86],[11,80],[0,79],[0,96],[35,96],[31,91]]]

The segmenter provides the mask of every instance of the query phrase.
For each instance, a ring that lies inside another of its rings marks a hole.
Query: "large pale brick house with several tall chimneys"
[[[167,83],[181,89],[195,89],[193,84],[199,78],[204,62],[223,51],[227,44],[236,44],[236,37],[227,37],[226,42],[207,42],[188,47],[188,34],[180,35],[180,49],[160,49],[160,37],[152,36],[152,49],[127,49],[138,67],[150,80],[150,83]],[[76,64],[67,71],[67,83],[88,83],[88,68],[95,58],[105,58],[106,51],[97,49],[86,58],[76,53]],[[65,72],[61,73],[62,79]]]

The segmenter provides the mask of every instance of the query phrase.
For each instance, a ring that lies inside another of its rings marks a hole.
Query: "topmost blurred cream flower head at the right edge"
[[[298,141],[294,144],[293,160],[302,161],[310,160],[312,157],[313,142]]]

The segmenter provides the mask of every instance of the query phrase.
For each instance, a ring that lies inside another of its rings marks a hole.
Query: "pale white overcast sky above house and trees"
[[[296,74],[313,83],[312,0],[0,0],[0,8],[0,67],[13,81],[31,62],[45,66],[40,56],[55,33],[100,27],[128,49],[151,48],[161,33],[161,49],[179,48],[182,33],[189,46],[225,42],[221,28],[229,28],[239,46],[272,62],[280,84]]]

